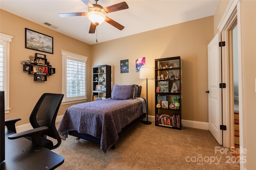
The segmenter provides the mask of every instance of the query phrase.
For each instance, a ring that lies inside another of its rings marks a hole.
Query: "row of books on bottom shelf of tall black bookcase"
[[[156,124],[180,128],[180,115],[156,114]]]

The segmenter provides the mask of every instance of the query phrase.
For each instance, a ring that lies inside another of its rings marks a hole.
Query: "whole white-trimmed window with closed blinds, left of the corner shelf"
[[[62,104],[84,102],[86,96],[86,61],[88,57],[61,51],[62,54]]]

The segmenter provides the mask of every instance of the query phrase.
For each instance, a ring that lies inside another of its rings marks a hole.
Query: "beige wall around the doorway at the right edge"
[[[229,1],[221,0],[214,15],[214,33],[228,6]],[[240,35],[242,62],[242,133],[243,147],[247,149],[245,169],[256,169],[256,1],[240,1]],[[240,129],[241,131],[241,129]],[[241,132],[240,132],[241,133]],[[241,144],[241,143],[240,143]]]

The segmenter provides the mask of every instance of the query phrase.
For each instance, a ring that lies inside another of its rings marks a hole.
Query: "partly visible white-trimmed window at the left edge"
[[[0,90],[4,91],[5,113],[9,113],[10,43],[13,36],[0,33]]]

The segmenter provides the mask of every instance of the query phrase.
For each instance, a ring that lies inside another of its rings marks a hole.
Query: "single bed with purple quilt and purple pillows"
[[[100,143],[100,149],[106,153],[121,133],[146,117],[140,91],[141,86],[135,84],[115,84],[111,98],[68,107],[57,129],[60,136],[64,140],[72,135]]]

